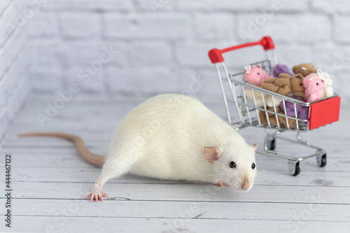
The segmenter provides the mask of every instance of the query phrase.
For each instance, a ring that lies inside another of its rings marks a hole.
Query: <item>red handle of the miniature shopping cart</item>
[[[241,45],[232,46],[229,48],[224,48],[223,50],[219,50],[218,48],[213,48],[209,50],[209,58],[211,60],[211,63],[216,64],[218,62],[223,62],[223,53],[224,52],[230,52],[232,50],[237,50],[239,48],[245,48],[250,47],[254,45],[262,45],[264,50],[271,50],[274,49],[274,41],[272,41],[272,38],[269,36],[264,36],[260,41],[250,42],[250,43],[243,43]]]

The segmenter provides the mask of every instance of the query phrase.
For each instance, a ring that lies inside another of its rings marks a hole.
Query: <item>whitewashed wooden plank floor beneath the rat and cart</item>
[[[285,160],[257,155],[260,178],[248,193],[127,175],[106,183],[110,199],[91,203],[83,197],[100,169],[81,160],[67,141],[16,135],[79,134],[90,150],[102,154],[118,122],[139,102],[71,101],[41,128],[36,113],[45,111],[45,102],[29,101],[3,140],[0,188],[5,190],[4,155],[11,153],[13,217],[10,230],[0,221],[0,232],[350,231],[350,106],[342,106],[340,122],[304,135],[328,151],[324,168],[311,158],[301,162],[300,175],[293,177]],[[221,102],[208,106],[223,116]],[[248,128],[241,134],[261,149],[265,132]],[[277,141],[280,148],[305,153]],[[0,202],[4,213],[6,199],[1,196]]]

